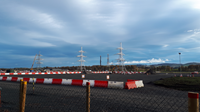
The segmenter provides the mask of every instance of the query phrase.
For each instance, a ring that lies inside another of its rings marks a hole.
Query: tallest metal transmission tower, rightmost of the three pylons
[[[122,50],[123,50],[123,48],[122,48],[122,43],[120,43],[120,47],[118,47],[117,49],[119,49],[119,53],[117,53],[117,55],[119,55],[119,58],[117,59],[118,60],[118,62],[119,62],[119,65],[121,65],[121,70],[122,70],[122,72],[124,73],[124,71],[126,71],[126,68],[125,68],[125,66],[124,66],[124,58],[123,58],[123,53],[122,53]]]

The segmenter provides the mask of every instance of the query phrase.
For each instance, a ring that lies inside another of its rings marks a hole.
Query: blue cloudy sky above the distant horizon
[[[117,64],[120,42],[126,65],[200,62],[200,1],[0,1],[0,68]]]

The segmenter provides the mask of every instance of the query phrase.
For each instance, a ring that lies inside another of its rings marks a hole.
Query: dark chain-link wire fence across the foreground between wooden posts
[[[0,112],[19,111],[19,82],[0,81]],[[146,84],[136,89],[90,89],[91,112],[187,112],[188,91]],[[26,112],[85,112],[86,87],[27,85]]]

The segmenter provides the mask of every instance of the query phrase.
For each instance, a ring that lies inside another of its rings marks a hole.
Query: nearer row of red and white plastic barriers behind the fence
[[[74,86],[86,86],[86,82],[90,82],[91,87],[104,87],[104,88],[116,88],[116,89],[134,89],[144,87],[142,80],[130,80],[128,79],[125,86],[124,82],[118,81],[100,81],[100,80],[82,80],[82,79],[54,79],[54,78],[23,78],[23,77],[0,77],[0,81],[12,81],[19,82],[20,79],[27,81],[28,83],[38,84],[59,84],[59,85],[74,85]]]

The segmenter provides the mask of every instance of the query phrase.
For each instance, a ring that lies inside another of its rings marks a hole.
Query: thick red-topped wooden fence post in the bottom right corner
[[[199,93],[188,92],[188,112],[199,112]]]

